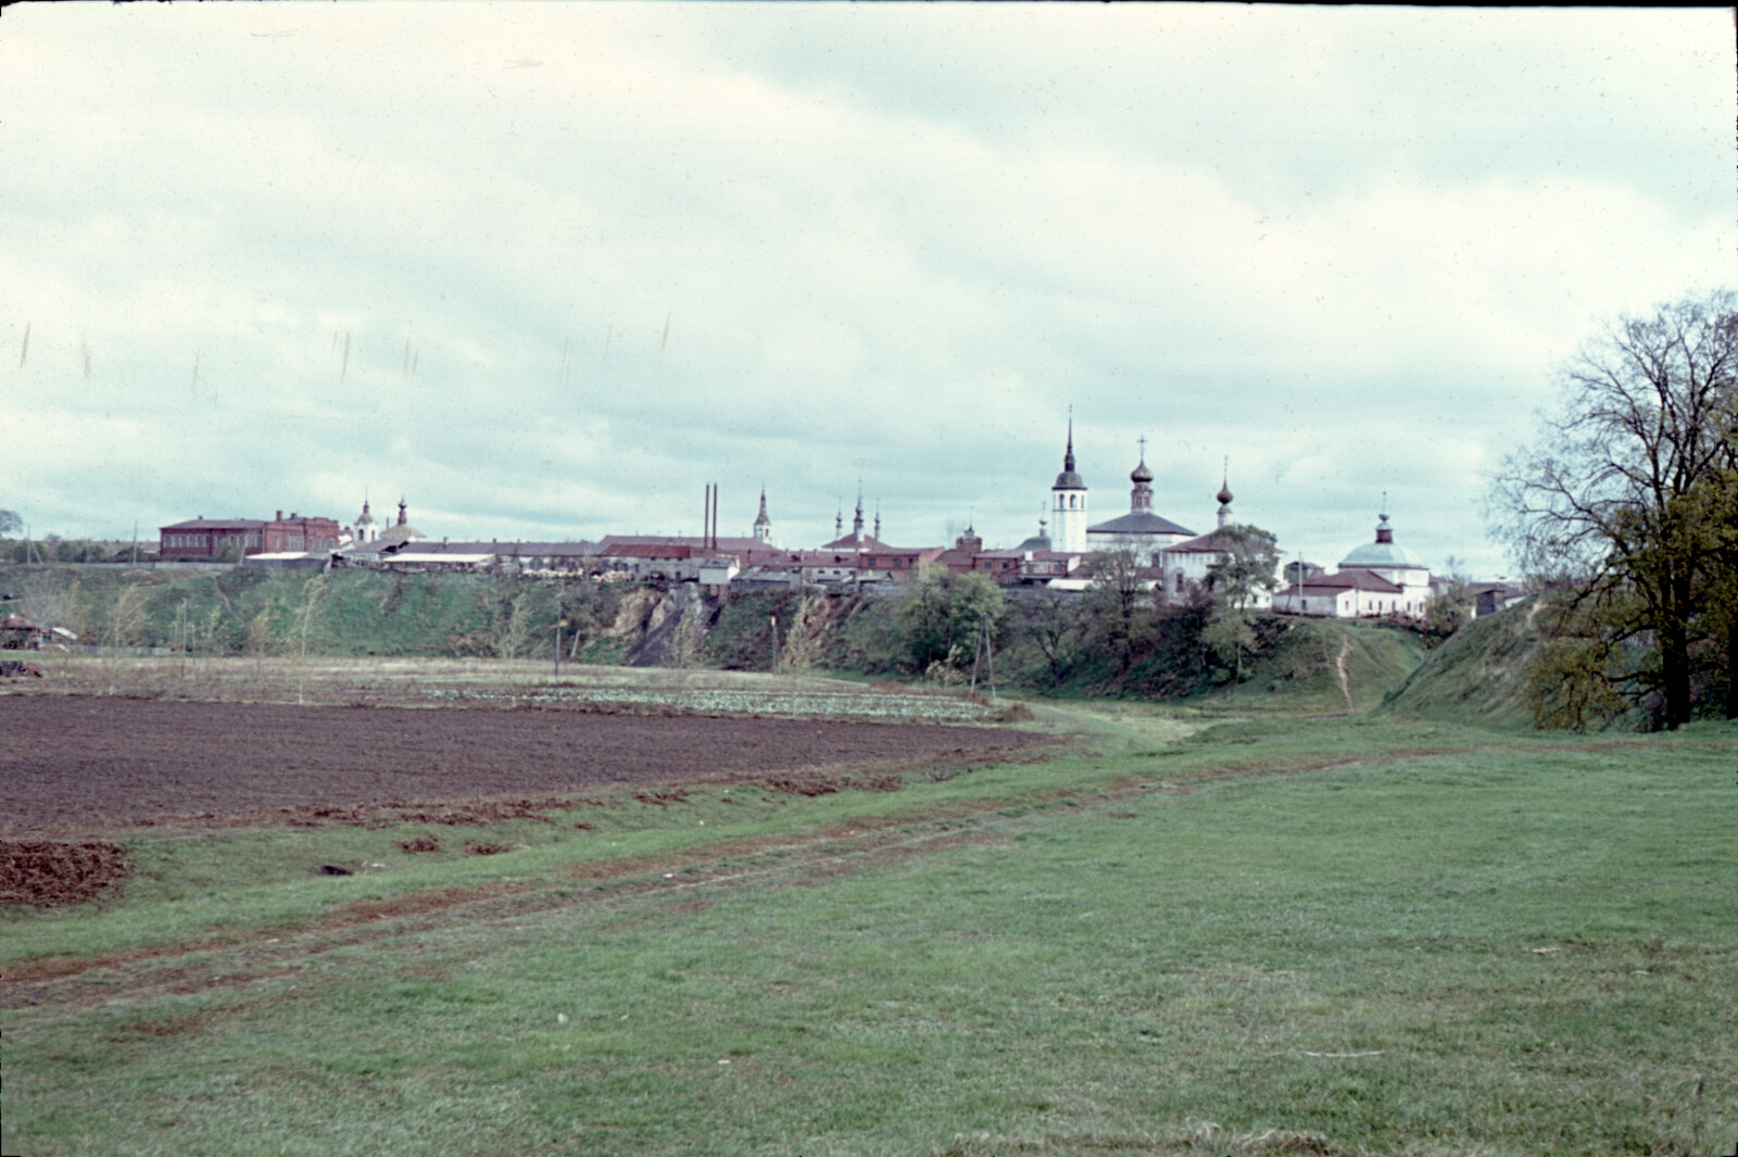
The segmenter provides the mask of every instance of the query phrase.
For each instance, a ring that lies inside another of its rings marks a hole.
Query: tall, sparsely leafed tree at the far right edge
[[[1662,723],[1691,716],[1691,632],[1708,528],[1693,500],[1733,462],[1738,297],[1731,292],[1622,318],[1562,368],[1562,403],[1491,490],[1493,530],[1521,566],[1554,580],[1613,645],[1649,660]],[[1582,618],[1576,618],[1582,620]]]

